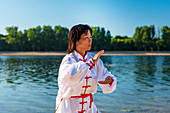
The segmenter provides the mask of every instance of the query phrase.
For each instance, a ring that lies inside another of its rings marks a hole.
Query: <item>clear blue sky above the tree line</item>
[[[0,0],[0,34],[11,26],[70,29],[80,23],[131,37],[137,26],[170,27],[170,0]]]

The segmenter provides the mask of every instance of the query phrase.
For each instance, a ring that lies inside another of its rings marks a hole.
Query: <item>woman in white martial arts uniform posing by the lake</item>
[[[69,32],[67,55],[59,68],[55,113],[100,113],[93,102],[97,83],[103,93],[116,89],[116,77],[108,72],[99,58],[104,50],[96,55],[88,52],[91,35],[92,29],[81,24],[73,26]]]

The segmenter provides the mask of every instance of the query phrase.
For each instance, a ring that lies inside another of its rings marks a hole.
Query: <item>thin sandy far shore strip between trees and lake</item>
[[[97,53],[98,51],[91,51]],[[43,52],[43,51],[0,51],[0,56],[64,56],[66,51]],[[103,56],[170,56],[170,51],[105,51]]]

